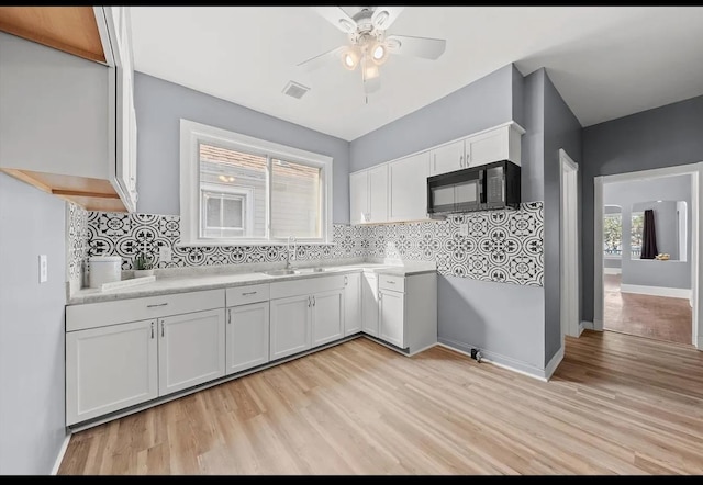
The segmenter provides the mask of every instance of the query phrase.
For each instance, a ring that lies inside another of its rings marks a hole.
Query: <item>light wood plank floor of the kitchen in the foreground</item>
[[[72,436],[59,474],[702,474],[703,352],[567,338],[549,382],[359,338]]]

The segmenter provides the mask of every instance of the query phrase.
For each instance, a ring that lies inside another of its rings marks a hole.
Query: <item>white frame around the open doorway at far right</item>
[[[603,284],[603,251],[598,250],[603,241],[603,184],[656,179],[660,177],[691,176],[691,306],[693,318],[691,325],[691,342],[703,350],[703,315],[699,312],[699,302],[703,301],[703,285],[699,284],[699,275],[703,274],[703,258],[700,257],[700,243],[703,240],[703,161],[673,167],[639,170],[612,176],[593,178],[593,329],[603,330],[603,302],[605,298]]]

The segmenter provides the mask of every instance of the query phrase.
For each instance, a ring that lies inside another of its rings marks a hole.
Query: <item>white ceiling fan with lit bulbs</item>
[[[444,38],[387,35],[386,30],[398,19],[403,7],[364,7],[353,16],[339,7],[311,8],[348,34],[349,45],[312,57],[298,66],[311,71],[334,59],[339,59],[349,70],[360,65],[366,94],[381,87],[379,66],[388,60],[390,54],[437,59],[447,43]]]

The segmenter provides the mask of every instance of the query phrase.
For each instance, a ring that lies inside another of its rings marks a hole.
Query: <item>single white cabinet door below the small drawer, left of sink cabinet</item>
[[[268,302],[227,308],[226,374],[268,362]]]

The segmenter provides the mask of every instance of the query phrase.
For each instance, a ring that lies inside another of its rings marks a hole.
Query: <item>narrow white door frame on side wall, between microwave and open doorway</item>
[[[579,312],[579,165],[559,149],[559,315],[563,337],[583,331]]]

